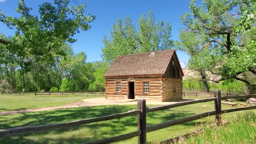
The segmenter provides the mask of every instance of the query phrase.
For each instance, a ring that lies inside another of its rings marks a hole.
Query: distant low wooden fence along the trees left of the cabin
[[[68,94],[68,95],[74,95],[74,94],[81,94],[81,95],[104,95],[105,92],[2,92],[0,94],[16,94],[16,95],[22,95],[22,94],[26,94],[26,95],[63,95],[63,94]]]

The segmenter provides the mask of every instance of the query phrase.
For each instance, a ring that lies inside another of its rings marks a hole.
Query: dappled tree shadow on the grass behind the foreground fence
[[[93,106],[0,116],[0,129],[21,127],[25,125],[76,121],[79,119],[94,118],[111,115],[113,113],[126,112],[136,109],[136,107],[136,105]],[[191,111],[179,111],[177,109],[150,112],[147,114],[147,125],[158,124],[190,115],[195,115],[195,113]],[[193,124],[193,122],[183,123],[183,125]],[[53,131],[42,131],[33,134],[3,137],[0,139],[0,143],[17,143],[18,141],[19,143],[82,143],[130,133],[137,129],[136,125],[137,117],[130,116],[113,119],[111,121],[55,129]],[[77,134],[75,131],[79,131],[79,134]]]

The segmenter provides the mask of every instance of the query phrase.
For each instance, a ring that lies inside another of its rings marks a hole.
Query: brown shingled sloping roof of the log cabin
[[[110,65],[104,76],[165,74],[173,53],[175,53],[175,50],[118,56]]]

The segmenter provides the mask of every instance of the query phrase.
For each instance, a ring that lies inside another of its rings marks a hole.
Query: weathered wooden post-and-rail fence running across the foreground
[[[88,124],[88,123],[94,123],[94,122],[100,122],[100,121],[107,121],[110,119],[116,119],[121,117],[127,117],[127,116],[134,116],[137,115],[137,131],[133,131],[132,133],[119,135],[110,137],[107,139],[102,140],[96,140],[87,142],[89,143],[111,143],[111,142],[117,142],[125,139],[130,139],[131,137],[138,136],[138,143],[139,144],[145,144],[147,142],[147,133],[159,129],[164,129],[167,127],[171,127],[173,125],[185,123],[194,121],[196,119],[200,119],[203,117],[213,116],[215,115],[216,123],[220,124],[221,122],[221,114],[222,113],[229,113],[234,111],[241,111],[241,110],[251,110],[256,109],[256,106],[249,106],[249,107],[239,107],[236,109],[230,109],[230,110],[222,110],[220,101],[222,99],[237,99],[237,98],[255,98],[256,95],[228,95],[225,97],[221,97],[220,91],[214,91],[213,98],[206,98],[206,99],[199,99],[199,100],[190,100],[185,101],[181,103],[176,104],[169,104],[169,105],[162,105],[162,106],[154,106],[154,107],[146,107],[146,100],[138,100],[137,103],[137,110],[131,110],[124,113],[115,113],[113,115],[103,116],[103,117],[97,117],[97,118],[89,118],[89,119],[81,119],[79,121],[73,121],[73,122],[63,122],[63,123],[54,123],[54,124],[42,124],[42,125],[35,125],[35,126],[26,126],[26,127],[17,127],[17,128],[10,128],[10,129],[1,129],[0,130],[0,137],[2,136],[13,136],[13,135],[20,135],[25,133],[32,133],[34,131],[42,131],[42,130],[49,130],[49,129],[56,129],[56,128],[63,128],[63,127],[71,127],[74,125],[81,125],[81,124]],[[154,124],[154,125],[148,125],[147,126],[147,113],[159,111],[159,110],[165,110],[170,109],[177,106],[183,106],[183,105],[190,105],[190,104],[196,104],[196,103],[204,103],[207,101],[214,101],[214,111],[207,111],[203,113],[199,113],[197,115],[192,115],[188,117],[183,117],[179,119],[174,119],[171,121],[167,121],[164,123]],[[170,139],[171,140],[171,139]],[[166,140],[164,142],[170,142],[169,140]]]

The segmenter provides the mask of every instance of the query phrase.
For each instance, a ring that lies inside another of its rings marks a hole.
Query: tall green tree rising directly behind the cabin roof
[[[110,38],[106,36],[103,38],[103,60],[112,62],[115,57],[120,55],[172,49],[172,27],[168,22],[155,22],[152,11],[149,11],[148,15],[141,15],[137,28],[138,31],[129,16],[123,22],[121,19],[117,19]]]

